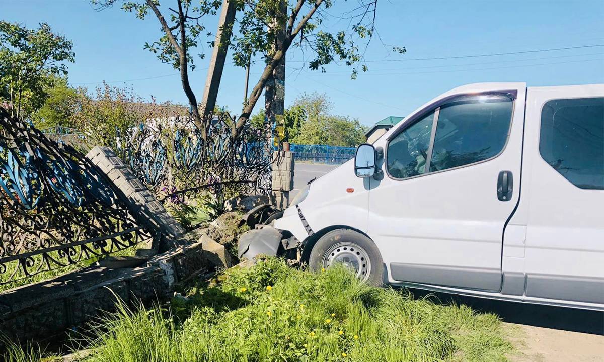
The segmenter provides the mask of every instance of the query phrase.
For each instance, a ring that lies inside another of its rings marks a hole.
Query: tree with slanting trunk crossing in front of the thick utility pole
[[[265,68],[249,95],[239,119],[233,127],[237,134],[248,120],[266,83],[274,74],[289,49],[303,48],[309,57],[311,70],[325,71],[332,62],[352,66],[352,77],[356,78],[359,68],[367,71],[364,54],[375,31],[377,0],[357,0],[352,9],[345,12],[349,26],[343,30],[330,31],[322,27],[327,19],[332,0],[294,0],[288,2],[290,10],[284,12],[281,0],[243,0],[240,11],[239,31],[233,34],[233,60],[236,65],[246,66],[248,55],[260,52],[265,55]],[[342,3],[342,2],[340,2]],[[283,41],[277,41],[285,28]],[[277,46],[275,46],[277,45]],[[393,51],[404,53],[405,48],[393,47]]]

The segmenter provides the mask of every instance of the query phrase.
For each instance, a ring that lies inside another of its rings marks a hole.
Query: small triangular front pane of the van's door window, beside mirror
[[[397,179],[425,173],[434,112],[421,118],[388,143],[386,167]]]

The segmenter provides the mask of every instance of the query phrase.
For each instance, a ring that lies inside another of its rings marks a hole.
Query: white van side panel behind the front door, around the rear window
[[[528,89],[523,165],[528,177],[518,211],[527,218],[525,297],[604,305],[604,189],[574,185],[539,150],[544,105],[591,97],[604,97],[604,84]],[[569,136],[577,130],[579,143],[604,138],[581,133],[581,119],[561,121],[576,123]]]

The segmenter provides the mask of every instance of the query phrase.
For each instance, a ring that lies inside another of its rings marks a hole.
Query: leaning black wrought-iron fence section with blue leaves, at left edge
[[[152,237],[83,154],[0,107],[0,284]]]

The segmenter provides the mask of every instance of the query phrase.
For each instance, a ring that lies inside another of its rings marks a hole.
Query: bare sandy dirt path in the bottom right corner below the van
[[[504,324],[518,348],[513,362],[604,362],[604,335]]]

